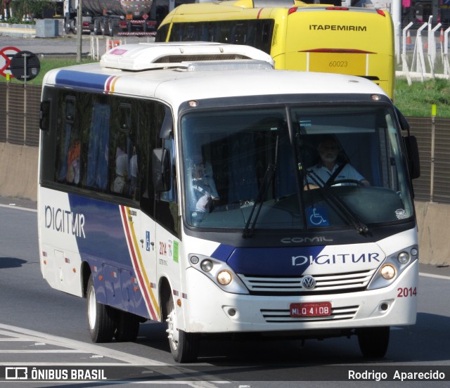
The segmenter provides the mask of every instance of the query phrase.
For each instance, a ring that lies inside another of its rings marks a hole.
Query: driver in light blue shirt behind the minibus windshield
[[[356,183],[361,186],[370,186],[367,179],[359,174],[352,164],[338,162],[338,155],[342,148],[333,136],[323,138],[317,150],[319,151],[320,161],[308,169],[311,172],[311,174],[307,174],[306,179],[308,188],[318,188],[318,185],[347,186]]]

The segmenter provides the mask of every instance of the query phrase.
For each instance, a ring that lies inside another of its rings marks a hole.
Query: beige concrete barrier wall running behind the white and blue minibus
[[[0,195],[37,200],[38,148],[0,143]],[[420,263],[450,265],[450,205],[416,201]]]

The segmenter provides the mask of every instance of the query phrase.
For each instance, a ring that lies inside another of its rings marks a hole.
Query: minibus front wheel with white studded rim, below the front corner
[[[172,295],[167,302],[167,338],[170,352],[177,363],[190,363],[197,359],[200,338],[197,334],[177,329],[177,316]]]

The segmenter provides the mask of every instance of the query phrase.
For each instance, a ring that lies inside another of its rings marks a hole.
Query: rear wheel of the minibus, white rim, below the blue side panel
[[[89,276],[86,291],[87,321],[92,342],[110,342],[115,332],[115,311],[110,306],[98,303],[94,279]]]

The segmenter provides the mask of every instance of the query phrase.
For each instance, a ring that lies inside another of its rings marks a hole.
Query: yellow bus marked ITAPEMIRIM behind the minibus
[[[156,41],[255,46],[276,69],[357,75],[393,97],[394,33],[386,11],[296,0],[184,4],[162,20]]]

